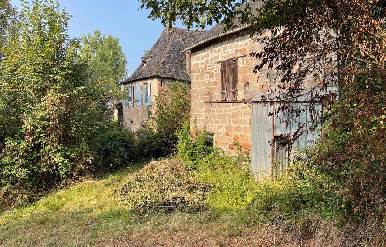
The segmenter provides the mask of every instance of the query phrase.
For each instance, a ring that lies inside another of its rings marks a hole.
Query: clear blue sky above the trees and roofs
[[[20,8],[20,0],[12,0]],[[61,0],[73,16],[68,24],[70,37],[80,37],[98,29],[119,38],[131,75],[164,29],[160,20],[147,19],[149,10],[138,10],[137,0]],[[176,24],[176,27],[182,27]]]

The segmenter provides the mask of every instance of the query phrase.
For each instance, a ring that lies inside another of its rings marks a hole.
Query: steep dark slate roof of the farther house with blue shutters
[[[181,50],[197,42],[206,32],[176,27],[169,30],[166,27],[146,57],[141,57],[142,62],[132,76],[120,84],[153,76],[190,81],[186,72],[185,53],[181,53]]]

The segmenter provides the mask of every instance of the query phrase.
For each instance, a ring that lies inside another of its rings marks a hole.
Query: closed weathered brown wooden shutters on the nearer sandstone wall
[[[238,61],[232,60],[221,63],[221,100],[237,100],[237,69]]]

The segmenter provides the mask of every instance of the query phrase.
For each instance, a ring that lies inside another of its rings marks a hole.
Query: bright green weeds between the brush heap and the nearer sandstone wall
[[[234,143],[238,147],[235,155],[225,155],[223,150],[213,147],[213,140],[205,130],[198,130],[196,121],[193,128],[192,136],[186,121],[178,131],[178,156],[195,171],[200,181],[211,185],[205,203],[213,208],[245,208],[255,187],[249,156],[237,143]]]

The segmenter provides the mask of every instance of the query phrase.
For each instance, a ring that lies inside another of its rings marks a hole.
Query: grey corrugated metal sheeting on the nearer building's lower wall
[[[307,102],[294,103],[293,106],[306,108],[306,111],[296,120],[301,123],[310,120]],[[321,106],[317,108],[318,111],[321,109]],[[280,135],[293,132],[298,127],[296,121],[291,121],[288,126],[286,126],[286,123],[280,123],[277,116],[268,116],[268,111],[273,112],[273,106],[263,106],[263,104],[253,104],[252,106],[251,166],[257,179],[271,175],[272,148],[270,141],[273,138],[273,134]],[[303,149],[311,144],[310,140],[316,140],[319,134],[320,126],[317,128],[317,131],[304,133],[296,143],[293,144],[293,147]]]

